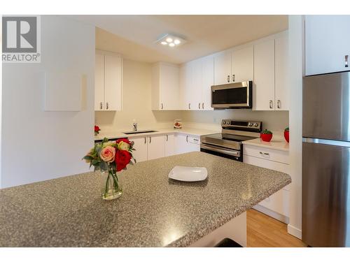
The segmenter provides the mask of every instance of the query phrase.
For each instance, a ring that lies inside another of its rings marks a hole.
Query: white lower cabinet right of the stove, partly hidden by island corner
[[[272,150],[252,145],[243,146],[243,162],[253,166],[269,168],[283,173],[289,173],[288,152]],[[272,194],[253,208],[265,214],[288,223],[289,218],[289,187]]]

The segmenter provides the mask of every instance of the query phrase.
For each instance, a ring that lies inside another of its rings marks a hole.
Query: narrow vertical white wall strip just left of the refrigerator
[[[288,233],[302,237],[302,75],[304,71],[304,17],[289,15],[290,76],[290,217]]]

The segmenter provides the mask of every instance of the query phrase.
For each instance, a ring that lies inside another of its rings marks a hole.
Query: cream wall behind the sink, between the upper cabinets
[[[96,111],[95,123],[104,131],[139,130],[171,127],[180,111],[151,110],[151,64],[123,59],[123,110]]]

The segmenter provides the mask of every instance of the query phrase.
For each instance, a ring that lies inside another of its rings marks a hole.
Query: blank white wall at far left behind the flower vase
[[[86,76],[83,109],[44,112],[43,75],[64,70]],[[94,27],[42,16],[41,63],[3,64],[2,73],[1,187],[87,171],[81,158],[94,136]]]

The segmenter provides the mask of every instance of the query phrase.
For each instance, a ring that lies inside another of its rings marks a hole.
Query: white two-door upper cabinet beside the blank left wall
[[[122,109],[122,64],[118,54],[96,53],[94,110]]]

